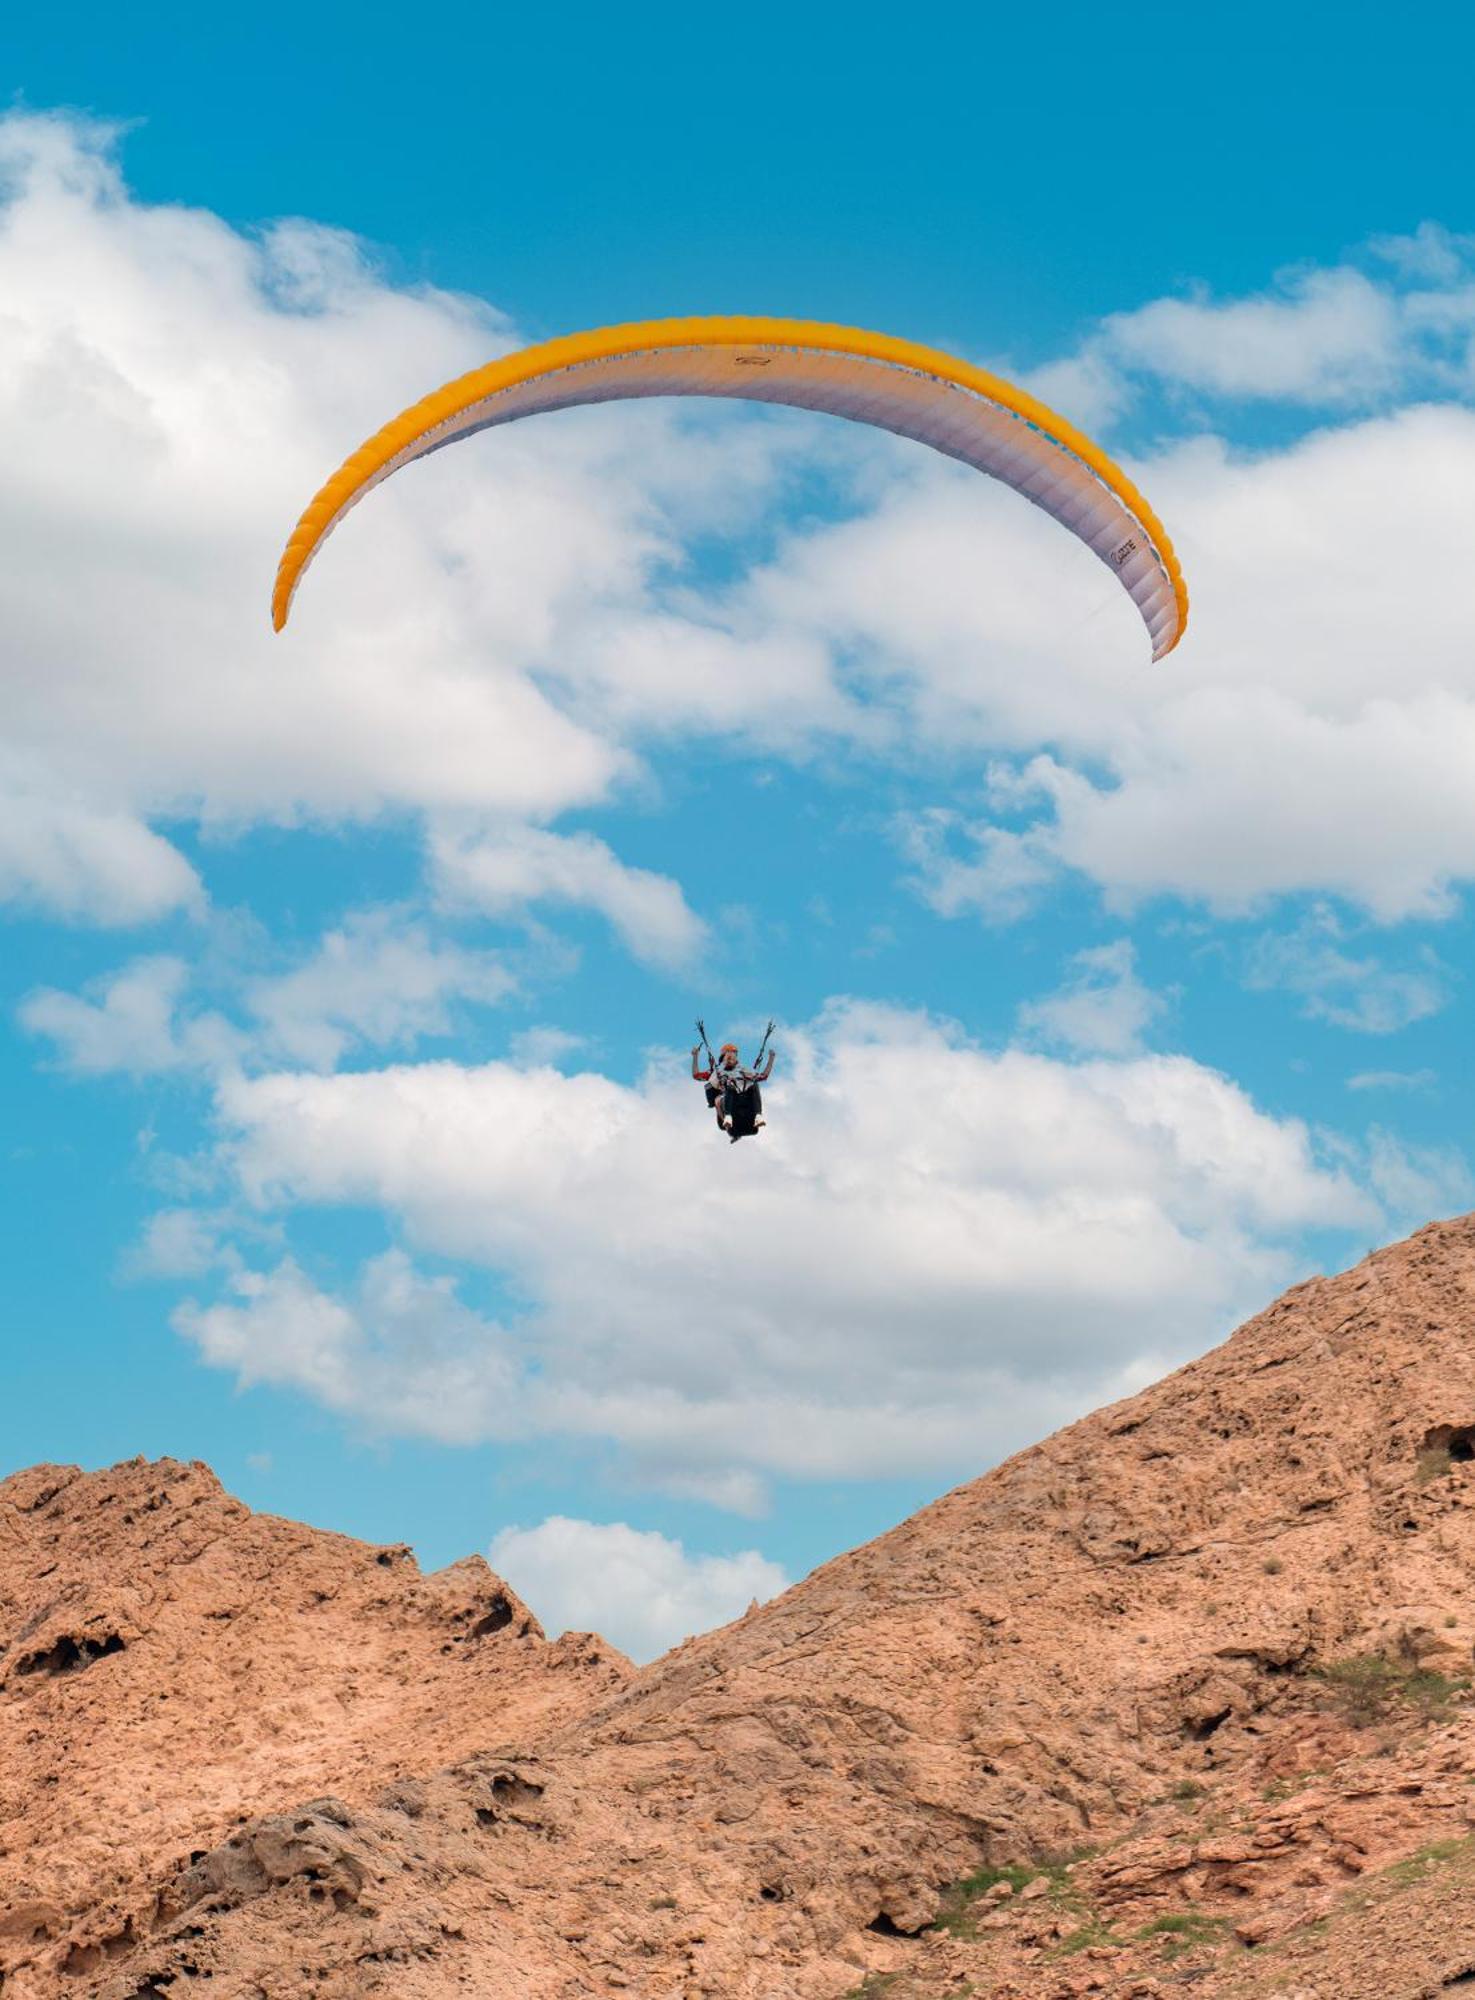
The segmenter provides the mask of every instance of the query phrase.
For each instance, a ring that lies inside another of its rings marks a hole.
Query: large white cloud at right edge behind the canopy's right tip
[[[947,472],[795,540],[751,586],[795,642],[829,632],[871,662],[921,738],[1015,758],[983,812],[907,820],[931,906],[1017,916],[1067,870],[1123,912],[1335,894],[1383,922],[1449,916],[1475,876],[1475,412],[1133,470],[1193,592],[1151,672],[1083,550]]]

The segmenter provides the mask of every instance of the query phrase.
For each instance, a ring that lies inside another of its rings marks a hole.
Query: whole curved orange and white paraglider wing
[[[570,334],[476,368],[404,410],[328,480],[282,554],[272,622],[366,492],[478,430],[632,396],[736,396],[825,410],[917,438],[1033,500],[1121,578],[1169,654],[1187,624],[1173,544],[1131,480],[1083,432],[999,376],[935,348],[811,320],[648,320]]]

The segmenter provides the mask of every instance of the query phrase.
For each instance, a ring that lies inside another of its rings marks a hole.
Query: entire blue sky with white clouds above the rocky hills
[[[0,1466],[208,1458],[652,1650],[1469,1206],[1471,30],[1421,20],[8,36]],[[658,406],[416,468],[272,640],[402,402],[702,310],[1027,380],[1187,642],[925,454]],[[761,1148],[696,1012],[781,1022]]]

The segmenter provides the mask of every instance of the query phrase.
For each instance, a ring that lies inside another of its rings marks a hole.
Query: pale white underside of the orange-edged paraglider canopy
[[[548,410],[636,396],[730,396],[821,410],[915,438],[1003,480],[1085,542],[1131,594],[1161,660],[1179,636],[1171,578],[1137,516],[1073,452],[1027,418],[941,376],[857,354],[795,346],[682,346],[576,362],[498,390],[424,432],[388,460],[334,516],[400,466],[476,430]]]

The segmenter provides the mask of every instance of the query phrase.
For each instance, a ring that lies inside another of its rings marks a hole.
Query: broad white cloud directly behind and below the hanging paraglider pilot
[[[1305,1228],[1377,1226],[1303,1126],[1187,1058],[993,1056],[837,1006],[781,1036],[769,1092],[769,1130],[728,1148],[676,1062],[638,1090],[450,1062],[226,1080],[250,1202],[378,1206],[528,1312],[430,1344],[406,1312],[390,1340],[292,1270],[186,1324],[368,1424],[604,1438],[753,1508],[773,1474],[987,1462],[1203,1346]]]

